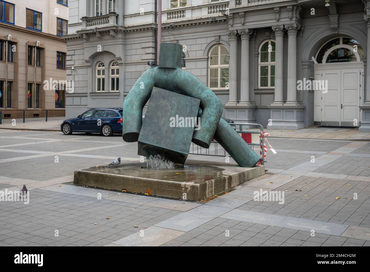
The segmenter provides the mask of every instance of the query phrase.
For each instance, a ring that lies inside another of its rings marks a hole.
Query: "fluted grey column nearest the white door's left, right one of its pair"
[[[286,104],[298,105],[297,101],[297,32],[298,24],[285,25],[288,31],[288,81]]]

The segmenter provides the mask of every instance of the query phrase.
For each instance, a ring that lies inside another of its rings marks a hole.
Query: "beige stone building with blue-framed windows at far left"
[[[0,0],[2,118],[65,115],[68,2]]]

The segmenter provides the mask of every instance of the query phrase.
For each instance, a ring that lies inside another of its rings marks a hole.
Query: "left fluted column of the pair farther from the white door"
[[[236,105],[238,103],[238,31],[228,31],[230,43],[229,60],[229,102],[226,105]]]

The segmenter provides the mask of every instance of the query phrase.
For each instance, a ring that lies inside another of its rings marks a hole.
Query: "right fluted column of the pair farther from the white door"
[[[240,76],[240,101],[239,104],[248,105],[249,101],[249,37],[253,33],[250,29],[241,29],[242,40],[241,76]]]

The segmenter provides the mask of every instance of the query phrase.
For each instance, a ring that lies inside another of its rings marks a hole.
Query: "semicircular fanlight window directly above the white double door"
[[[316,55],[318,63],[360,62],[364,50],[360,43],[349,37],[327,41]]]

